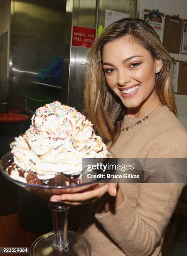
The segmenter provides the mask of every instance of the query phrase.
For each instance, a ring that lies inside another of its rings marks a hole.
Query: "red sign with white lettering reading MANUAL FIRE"
[[[90,48],[95,40],[95,28],[73,26],[72,46]]]

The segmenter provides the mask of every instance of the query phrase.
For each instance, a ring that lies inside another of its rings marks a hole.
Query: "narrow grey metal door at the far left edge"
[[[8,32],[0,36],[0,112],[7,112],[8,79]]]

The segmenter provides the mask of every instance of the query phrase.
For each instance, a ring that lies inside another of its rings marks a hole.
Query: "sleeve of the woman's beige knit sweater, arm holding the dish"
[[[148,157],[186,158],[186,133],[162,134]],[[115,212],[96,212],[95,218],[127,256],[152,255],[184,186],[140,184],[136,206],[124,195],[124,203]]]

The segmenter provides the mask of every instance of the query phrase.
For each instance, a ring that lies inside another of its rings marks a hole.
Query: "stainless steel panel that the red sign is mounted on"
[[[72,26],[94,28],[96,0],[73,0]],[[83,109],[84,67],[89,48],[71,46],[68,105]]]

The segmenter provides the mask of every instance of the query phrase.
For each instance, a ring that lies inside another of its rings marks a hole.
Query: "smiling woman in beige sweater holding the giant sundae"
[[[86,67],[85,105],[117,158],[187,157],[187,133],[175,117],[172,59],[144,20],[124,18],[96,39]],[[160,256],[184,185],[98,184],[51,200],[78,205],[99,198],[83,206],[80,228],[93,256]]]

